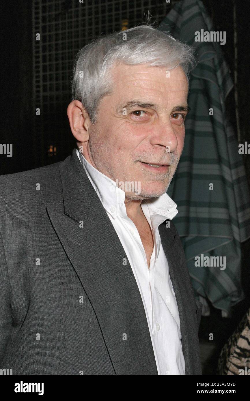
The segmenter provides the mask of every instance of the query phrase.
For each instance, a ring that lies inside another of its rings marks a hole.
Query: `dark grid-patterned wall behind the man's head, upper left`
[[[40,109],[34,113],[36,165],[63,160],[74,146],[67,105],[77,51],[97,35],[144,22],[148,10],[160,23],[169,9],[156,0],[33,0],[33,38],[40,34],[33,49],[33,104]]]

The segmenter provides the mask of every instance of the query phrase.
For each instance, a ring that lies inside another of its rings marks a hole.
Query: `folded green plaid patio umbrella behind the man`
[[[206,298],[227,316],[231,307],[244,298],[240,243],[250,237],[246,173],[224,103],[233,82],[222,55],[223,45],[195,42],[195,32],[213,30],[201,1],[175,4],[158,29],[196,51],[197,66],[190,74],[191,112],[185,123],[185,145],[167,193],[178,206],[174,224],[197,298]],[[213,190],[209,190],[211,184]],[[194,258],[202,254],[209,259],[226,257],[226,268],[196,267]]]

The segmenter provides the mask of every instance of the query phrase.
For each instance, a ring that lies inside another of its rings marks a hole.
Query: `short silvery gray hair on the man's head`
[[[147,63],[167,70],[180,66],[189,79],[189,71],[195,65],[193,52],[191,47],[151,24],[98,37],[77,53],[71,81],[72,100],[81,101],[94,124],[100,100],[112,93],[110,72],[116,62]]]

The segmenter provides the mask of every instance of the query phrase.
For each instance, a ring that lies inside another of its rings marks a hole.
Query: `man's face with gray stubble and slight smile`
[[[114,181],[140,182],[140,194],[127,198],[159,197],[183,150],[187,78],[181,67],[167,73],[146,64],[118,64],[112,76],[114,91],[100,101],[89,133],[91,163]]]

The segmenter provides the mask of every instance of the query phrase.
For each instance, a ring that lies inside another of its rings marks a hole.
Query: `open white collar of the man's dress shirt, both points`
[[[125,192],[116,185],[115,181],[93,167],[78,149],[76,149],[76,154],[104,209],[115,219],[117,217],[118,205],[124,203]],[[173,219],[178,213],[176,203],[174,203],[167,193],[159,196],[159,198],[142,201],[141,205],[143,203],[147,204],[150,217],[154,215],[154,219],[157,218],[159,224],[166,219]]]

